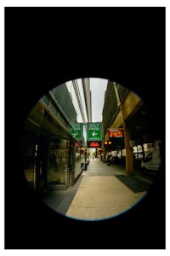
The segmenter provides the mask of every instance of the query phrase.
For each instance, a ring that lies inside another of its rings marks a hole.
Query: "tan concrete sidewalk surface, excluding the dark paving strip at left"
[[[133,207],[145,195],[148,186],[134,192],[119,177],[125,180],[127,177],[122,166],[107,166],[99,159],[91,160],[88,171],[82,172],[82,182],[66,216],[83,220],[111,218]],[[135,177],[131,179],[131,184],[137,181]],[[138,184],[145,183],[139,181]]]

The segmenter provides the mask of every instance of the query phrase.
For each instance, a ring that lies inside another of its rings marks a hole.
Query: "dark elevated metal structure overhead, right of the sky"
[[[132,100],[127,96],[129,90],[124,88],[120,84],[116,84],[117,92],[120,97],[120,102],[117,102],[116,93],[114,91],[114,86],[111,81],[108,82],[106,96],[105,96],[105,105],[103,109],[103,126],[104,126],[104,137],[107,137],[111,144],[108,146],[110,149],[125,148],[124,140],[122,138],[109,138],[108,129],[111,128],[111,124],[116,122],[115,120],[118,117],[118,114],[122,115],[122,107],[124,104],[124,113],[127,111],[124,117],[124,125],[128,127],[131,133],[131,139],[134,145],[142,145],[144,143],[154,143],[155,140],[161,140],[161,130],[158,119],[150,112],[150,109],[147,108],[139,98],[138,103],[133,103],[135,97],[138,98],[133,92]],[[127,96],[127,97],[126,97]],[[131,110],[130,105],[134,105]],[[120,119],[120,118],[119,118]],[[116,122],[118,124],[118,122]],[[115,128],[124,128],[123,121],[119,127]]]

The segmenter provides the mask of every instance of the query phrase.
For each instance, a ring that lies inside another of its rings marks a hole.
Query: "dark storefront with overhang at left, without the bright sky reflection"
[[[71,122],[76,122],[71,102],[69,111]],[[71,122],[66,110],[64,113],[50,94],[43,96],[29,114],[21,138],[21,154],[32,189],[67,189],[82,172],[81,146],[71,137]]]

